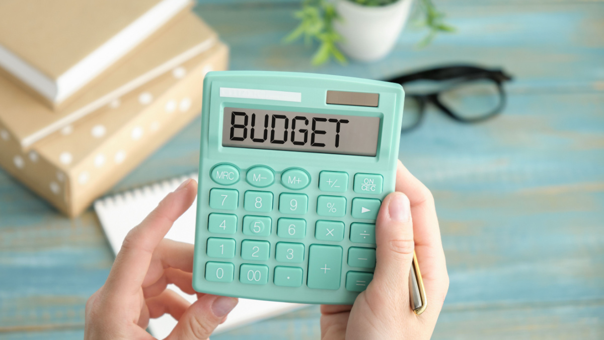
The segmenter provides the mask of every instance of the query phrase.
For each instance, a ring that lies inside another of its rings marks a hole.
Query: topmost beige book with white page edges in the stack
[[[60,103],[190,0],[0,1],[0,66]]]

